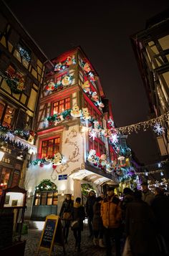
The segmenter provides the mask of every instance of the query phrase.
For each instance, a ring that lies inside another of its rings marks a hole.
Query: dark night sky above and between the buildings
[[[6,3],[49,59],[77,45],[84,49],[112,102],[118,127],[148,119],[148,100],[130,35],[145,29],[147,19],[167,9],[168,0]],[[127,141],[141,163],[159,160],[154,133],[132,133]]]

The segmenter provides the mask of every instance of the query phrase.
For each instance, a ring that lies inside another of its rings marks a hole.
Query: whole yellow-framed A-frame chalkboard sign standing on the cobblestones
[[[62,238],[62,224],[60,222],[59,216],[55,214],[48,215],[46,217],[41,240],[39,242],[38,255],[39,250],[47,251],[49,252],[49,255],[51,255],[52,248],[56,242],[57,244],[62,245],[64,249],[64,241]]]

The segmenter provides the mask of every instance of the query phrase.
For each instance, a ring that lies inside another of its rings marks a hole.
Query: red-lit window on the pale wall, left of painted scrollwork
[[[54,153],[59,152],[60,137],[52,138],[48,141],[42,141],[42,158],[54,156]]]

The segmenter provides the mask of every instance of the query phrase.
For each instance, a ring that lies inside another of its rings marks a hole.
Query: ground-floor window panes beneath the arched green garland
[[[57,191],[36,192],[34,197],[34,205],[57,205]]]

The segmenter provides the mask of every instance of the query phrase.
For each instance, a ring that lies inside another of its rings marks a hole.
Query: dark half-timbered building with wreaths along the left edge
[[[0,1],[1,189],[24,186],[34,146],[34,117],[47,57]]]

